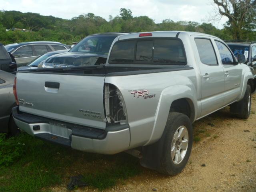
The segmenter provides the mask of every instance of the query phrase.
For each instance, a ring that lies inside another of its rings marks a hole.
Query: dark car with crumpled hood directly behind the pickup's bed
[[[112,42],[116,37],[124,34],[128,33],[103,33],[87,36],[68,52],[51,56],[44,62],[43,68],[104,64]]]

